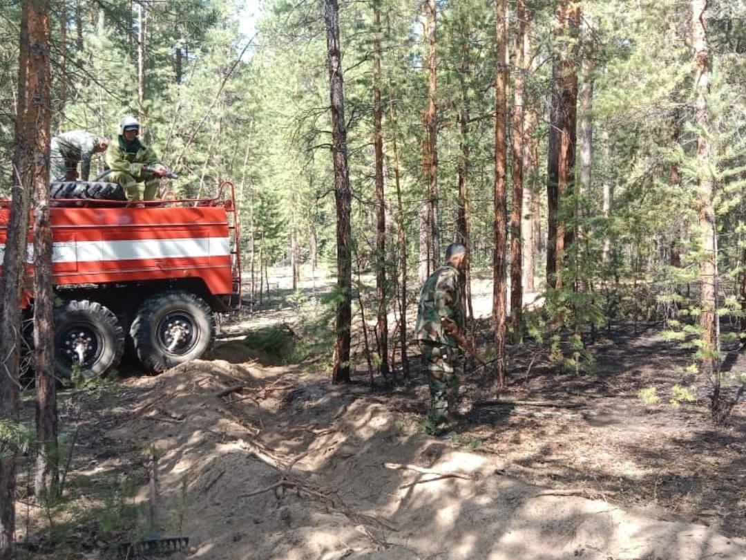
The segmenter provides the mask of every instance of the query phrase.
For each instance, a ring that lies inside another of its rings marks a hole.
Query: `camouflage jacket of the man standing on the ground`
[[[420,291],[415,336],[417,340],[432,340],[438,344],[458,346],[440,323],[447,317],[464,330],[466,313],[459,290],[459,271],[451,264],[443,264],[430,275]]]

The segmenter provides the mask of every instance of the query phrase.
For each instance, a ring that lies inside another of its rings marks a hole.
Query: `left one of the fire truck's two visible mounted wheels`
[[[54,309],[54,369],[63,379],[80,368],[85,379],[119,365],[125,332],[108,308],[87,299],[69,300]]]

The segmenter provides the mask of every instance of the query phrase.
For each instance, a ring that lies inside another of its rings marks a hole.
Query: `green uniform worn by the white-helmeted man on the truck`
[[[139,138],[128,144],[122,136],[116,137],[107,147],[104,160],[111,169],[107,181],[121,184],[128,200],[160,198],[160,178],[152,171],[146,171],[145,166],[163,166],[154,150],[143,145]],[[140,191],[140,183],[145,184],[143,192]]]

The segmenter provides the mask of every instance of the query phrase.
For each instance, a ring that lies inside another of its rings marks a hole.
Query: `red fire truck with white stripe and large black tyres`
[[[53,183],[51,195],[57,376],[100,376],[125,346],[155,372],[200,358],[219,314],[240,305],[233,184],[222,182],[213,198],[172,196],[139,208],[101,181]],[[2,250],[9,215],[10,202],[0,201]],[[32,241],[30,233],[29,255]],[[33,293],[25,302],[33,305]]]

